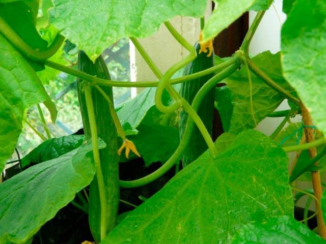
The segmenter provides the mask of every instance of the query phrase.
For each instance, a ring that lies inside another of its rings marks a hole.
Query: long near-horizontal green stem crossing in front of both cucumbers
[[[64,73],[78,77],[80,79],[86,80],[88,82],[91,82],[93,85],[115,86],[115,87],[155,87],[158,85],[158,81],[132,82],[132,81],[114,81],[114,80],[101,79],[96,76],[86,74],[85,72],[75,70],[75,69],[72,69],[72,68],[64,66],[64,65],[60,65],[60,64],[52,62],[50,60],[45,60],[44,65],[46,65],[52,69],[56,69],[56,70],[62,71]],[[199,77],[211,74],[213,72],[219,72],[219,71],[225,69],[226,67],[228,67],[229,65],[230,65],[230,63],[228,61],[226,61],[222,64],[216,65],[207,70],[203,70],[203,71],[191,74],[191,75],[185,75],[183,77],[176,78],[176,79],[171,79],[170,83],[178,84],[178,83],[186,82],[189,80],[194,80]]]

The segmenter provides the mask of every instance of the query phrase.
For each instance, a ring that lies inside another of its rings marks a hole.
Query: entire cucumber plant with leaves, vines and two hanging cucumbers
[[[202,0],[0,0],[0,169],[7,175],[0,184],[0,243],[42,241],[42,226],[63,209],[83,212],[92,234],[70,243],[325,242],[326,3],[284,0],[281,51],[252,57],[249,45],[272,1],[214,2],[204,23]],[[249,10],[257,13],[239,50],[215,56],[211,40]],[[177,15],[201,18],[195,46],[169,22]],[[163,23],[188,51],[164,73],[137,40]],[[121,38],[130,38],[157,80],[110,78],[101,53]],[[56,58],[72,43],[77,67]],[[53,122],[57,109],[36,73],[45,67],[78,79],[85,135],[51,138],[40,104]],[[226,86],[216,88],[219,82]],[[115,108],[113,86],[146,88]],[[290,109],[275,111],[284,100]],[[214,103],[225,129],[215,142]],[[22,128],[32,127],[26,111],[33,105],[46,136],[33,130],[44,142],[8,174]],[[294,124],[297,114],[302,121]],[[257,131],[265,117],[284,117],[270,136]],[[133,174],[125,177],[124,169]],[[297,189],[298,180],[313,189]],[[128,202],[126,194],[144,202]],[[294,207],[303,196],[300,219]]]

